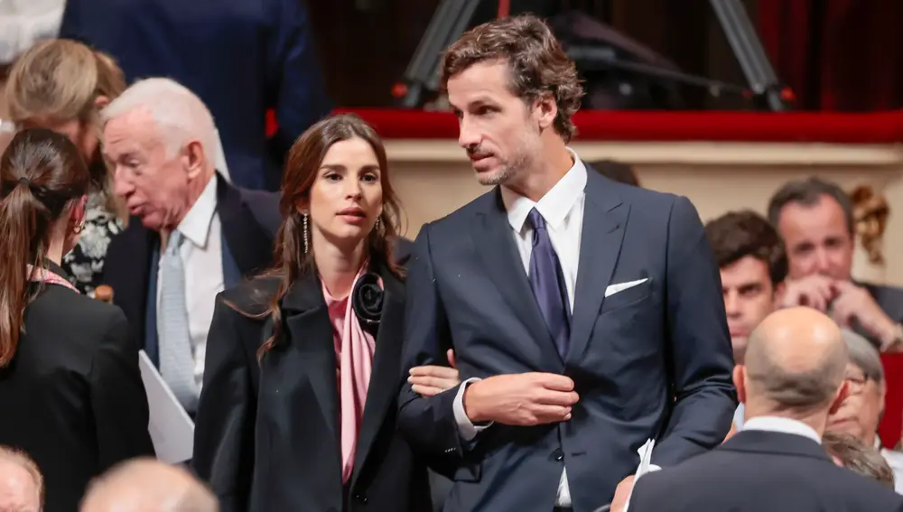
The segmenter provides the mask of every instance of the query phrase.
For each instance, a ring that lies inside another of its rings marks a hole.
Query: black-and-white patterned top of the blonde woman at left
[[[99,193],[88,196],[85,212],[85,228],[79,244],[62,258],[62,268],[79,292],[94,296],[104,270],[110,238],[123,230],[116,214],[107,210],[107,201]]]

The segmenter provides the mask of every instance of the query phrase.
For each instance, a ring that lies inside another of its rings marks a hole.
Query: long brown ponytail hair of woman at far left
[[[79,149],[50,130],[19,132],[0,157],[0,368],[15,356],[33,299],[27,266],[44,266],[52,230],[90,181]]]

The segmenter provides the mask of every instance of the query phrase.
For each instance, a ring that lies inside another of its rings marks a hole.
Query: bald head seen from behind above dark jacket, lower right
[[[748,407],[827,414],[840,395],[847,348],[833,320],[811,308],[787,308],[752,331],[745,363]]]

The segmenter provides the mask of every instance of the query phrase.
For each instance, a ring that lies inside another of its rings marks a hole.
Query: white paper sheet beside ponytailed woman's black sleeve
[[[147,393],[151,421],[147,429],[154,442],[157,459],[170,464],[191,460],[194,451],[194,422],[172,395],[154,362],[144,350],[138,352],[138,367]]]

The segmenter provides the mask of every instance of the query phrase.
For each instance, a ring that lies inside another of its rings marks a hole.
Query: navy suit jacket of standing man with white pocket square
[[[564,360],[530,290],[498,189],[424,226],[409,264],[406,367],[442,364],[461,380],[548,372],[580,401],[560,424],[493,424],[461,442],[458,388],[424,398],[405,385],[398,424],[421,450],[458,454],[445,510],[552,510],[565,465],[577,511],[609,503],[656,438],[666,467],[731,428],[731,338],[721,279],[689,200],[587,172],[570,351]],[[646,279],[605,298],[610,284]]]

